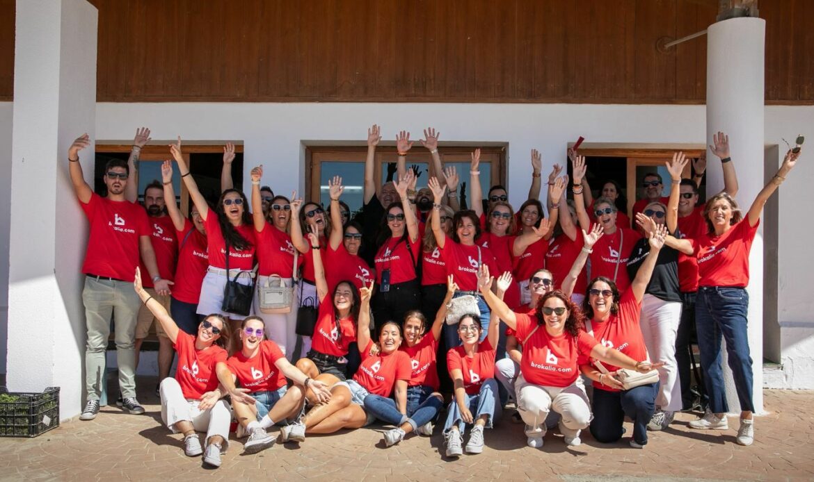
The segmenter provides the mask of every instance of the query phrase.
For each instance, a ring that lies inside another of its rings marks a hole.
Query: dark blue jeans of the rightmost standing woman
[[[721,367],[722,335],[726,340],[729,368],[732,369],[741,410],[755,411],[752,403],[752,358],[746,332],[748,310],[749,294],[746,289],[722,286],[702,286],[698,289],[695,326],[698,329],[704,385],[712,413],[729,411],[724,393],[724,370]]]

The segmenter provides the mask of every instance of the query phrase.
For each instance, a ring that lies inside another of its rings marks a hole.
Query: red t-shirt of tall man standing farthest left
[[[139,237],[151,234],[147,212],[134,202],[111,201],[97,193],[79,204],[90,222],[82,272],[133,281],[141,254]],[[145,278],[150,278],[149,273],[142,274]]]

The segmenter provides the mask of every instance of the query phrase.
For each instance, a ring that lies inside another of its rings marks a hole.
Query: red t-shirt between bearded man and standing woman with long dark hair
[[[187,237],[186,233],[190,235]],[[175,268],[173,297],[179,302],[197,305],[201,296],[201,284],[209,266],[207,237],[201,234],[189,219],[184,228],[176,232],[178,238],[178,265]],[[186,241],[184,239],[186,238]]]

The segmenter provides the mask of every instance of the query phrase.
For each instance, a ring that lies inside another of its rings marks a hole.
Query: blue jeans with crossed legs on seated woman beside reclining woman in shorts
[[[413,432],[419,427],[438,416],[443,403],[436,397],[431,397],[432,387],[420,385],[407,388],[407,415],[402,415],[396,408],[396,401],[381,395],[370,394],[365,397],[365,411],[373,414],[377,419],[400,427],[402,423],[409,423]]]

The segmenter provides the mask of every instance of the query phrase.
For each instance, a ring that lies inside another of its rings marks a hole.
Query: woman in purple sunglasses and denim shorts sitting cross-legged
[[[217,364],[218,376],[228,382],[223,386],[229,393],[239,391],[251,396],[251,400],[233,397],[234,415],[242,429],[239,432],[249,434],[243,445],[247,454],[260,452],[274,443],[266,432],[274,423],[300,421],[305,389],[311,389],[318,402],[330,400],[330,391],[324,382],[305,376],[288,362],[274,341],[264,340],[264,336],[263,319],[249,316],[240,327],[241,350],[226,363]],[[222,370],[229,373],[221,376]],[[240,389],[235,388],[233,378],[239,382]],[[286,378],[294,382],[290,388]]]

